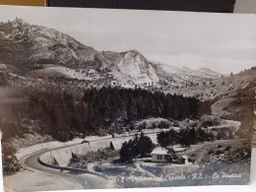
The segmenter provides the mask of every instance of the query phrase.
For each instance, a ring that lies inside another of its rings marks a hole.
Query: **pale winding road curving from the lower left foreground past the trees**
[[[159,131],[146,133],[146,135],[153,135],[157,133],[159,133]],[[115,138],[96,138],[95,140],[90,141],[90,145],[94,145],[94,143],[98,141],[106,141],[106,140],[112,141],[120,138],[129,139],[129,138],[132,138],[134,134],[130,134],[127,136],[122,135]],[[113,186],[113,183],[111,183],[107,178],[103,178],[99,175],[96,175],[93,173],[84,173],[84,172],[82,173],[77,171],[67,171],[67,170],[61,171],[59,169],[46,167],[38,162],[39,157],[47,152],[61,150],[65,148],[71,148],[79,145],[81,145],[81,141],[76,144],[65,145],[62,147],[45,148],[21,158],[20,161],[25,166],[26,171],[22,171],[18,174],[10,176],[9,179],[7,179],[8,188],[13,189],[15,191],[21,191],[21,192],[24,192],[24,191],[28,192],[29,189],[30,189],[29,191],[34,191],[31,189],[32,187],[34,187],[33,189],[39,190],[37,189],[38,186],[42,187],[43,190],[54,190],[55,189],[54,183],[60,183],[60,186],[58,186],[57,188],[58,190],[67,190],[67,188],[65,188],[66,186],[65,184],[67,183],[69,183],[69,186],[75,186],[76,189],[115,188],[115,186]],[[25,181],[24,177],[27,177],[27,181]],[[17,181],[16,183],[13,182],[13,180],[16,180],[17,178],[18,180],[21,181],[22,186],[17,184],[19,183],[19,181]],[[46,186],[49,180],[51,181],[51,186],[50,185]],[[63,180],[64,182],[67,182],[67,183],[63,183]],[[63,185],[61,183],[63,183]],[[32,187],[22,189],[24,185],[28,185],[28,186],[32,185]],[[43,188],[44,186],[45,188]],[[52,189],[52,187],[54,187],[54,189]]]

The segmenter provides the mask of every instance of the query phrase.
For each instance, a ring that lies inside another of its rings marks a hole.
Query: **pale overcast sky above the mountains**
[[[139,50],[166,65],[223,74],[256,66],[256,15],[0,6],[16,17],[66,32],[97,50]]]

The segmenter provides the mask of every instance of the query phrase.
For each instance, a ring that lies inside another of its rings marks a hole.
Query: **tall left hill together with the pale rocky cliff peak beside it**
[[[159,82],[153,67],[138,51],[99,52],[67,34],[30,25],[21,19],[0,23],[0,58],[6,64],[23,69],[35,64],[55,64],[72,69],[111,71],[122,82]]]

